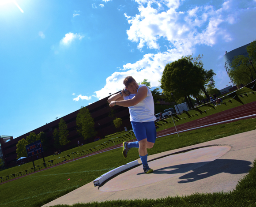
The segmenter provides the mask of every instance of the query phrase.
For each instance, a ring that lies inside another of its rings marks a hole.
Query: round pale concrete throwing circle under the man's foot
[[[142,166],[138,166],[109,180],[99,190],[102,192],[121,191],[190,173],[194,169],[222,157],[230,148],[230,146],[211,146],[169,155],[148,163],[154,169],[153,173],[145,174]]]

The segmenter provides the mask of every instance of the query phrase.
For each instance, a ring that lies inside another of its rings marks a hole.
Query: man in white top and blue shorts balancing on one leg
[[[120,105],[129,108],[130,120],[137,142],[124,142],[123,155],[127,157],[128,151],[132,147],[139,148],[139,157],[143,164],[145,173],[152,173],[147,164],[147,149],[152,148],[156,139],[156,129],[154,126],[154,100],[151,91],[146,85],[138,85],[132,76],[124,79],[125,89],[119,94],[109,97],[109,106]],[[128,91],[127,91],[128,90]]]

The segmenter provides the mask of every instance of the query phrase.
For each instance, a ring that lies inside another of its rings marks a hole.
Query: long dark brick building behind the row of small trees
[[[94,118],[94,123],[95,123],[94,128],[98,132],[97,136],[100,138],[104,138],[105,135],[109,135],[117,132],[117,128],[115,128],[113,125],[113,120],[116,117],[122,119],[122,122],[123,122],[122,128],[127,127],[128,130],[132,128],[132,125],[129,119],[130,115],[129,115],[128,108],[117,105],[113,107],[113,110],[111,110],[112,108],[109,107],[109,104],[107,102],[108,98],[109,96],[87,106],[91,116]],[[76,116],[78,113],[79,113],[79,110],[62,117],[64,121],[68,124],[68,132],[69,132],[68,140],[70,140],[70,143],[68,144],[68,146],[62,147],[60,149],[61,151],[76,147],[78,139],[79,139],[79,142],[83,144],[94,141],[94,138],[84,140],[83,137],[77,133]],[[45,132],[47,143],[45,144],[46,146],[43,146],[44,156],[49,156],[53,154],[54,151],[59,150],[59,149],[55,149],[53,145],[54,143],[53,131],[55,128],[58,128],[59,122],[60,122],[60,118],[31,131],[31,132],[34,132],[35,134],[38,134],[40,132]],[[24,135],[21,135],[15,139],[13,139],[12,136],[3,136],[3,137],[1,136],[0,145],[1,145],[2,154],[3,154],[2,160],[4,160],[5,166],[16,165],[16,160],[17,160],[16,144],[19,142],[19,140],[23,138],[26,139],[26,136],[28,136],[29,134],[30,132]],[[29,161],[32,161],[31,158],[28,158],[28,159]]]

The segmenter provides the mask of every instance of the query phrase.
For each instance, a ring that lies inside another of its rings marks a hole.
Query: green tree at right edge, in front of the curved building
[[[252,41],[246,50],[249,56],[235,56],[230,64],[232,69],[229,75],[235,84],[247,84],[256,79],[256,40]]]

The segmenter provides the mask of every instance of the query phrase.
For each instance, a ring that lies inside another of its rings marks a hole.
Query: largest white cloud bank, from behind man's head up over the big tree
[[[159,86],[158,81],[167,63],[194,53],[198,45],[212,47],[218,42],[232,41],[232,34],[226,25],[236,23],[238,15],[242,15],[238,12],[242,9],[233,5],[231,0],[226,0],[218,8],[212,5],[190,6],[187,11],[182,9],[182,12],[178,8],[183,0],[135,1],[139,13],[134,16],[124,13],[130,24],[128,40],[136,42],[140,50],[144,46],[154,49],[155,54],[145,54],[136,63],[118,68],[119,71],[106,79],[105,87],[94,92],[99,99],[124,88],[123,79],[128,75],[132,75],[137,82],[148,79],[152,87]],[[160,38],[169,42],[165,52],[159,51],[164,48]],[[217,76],[221,75],[218,73]]]

